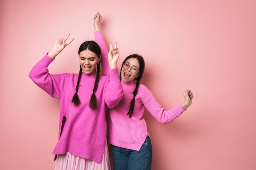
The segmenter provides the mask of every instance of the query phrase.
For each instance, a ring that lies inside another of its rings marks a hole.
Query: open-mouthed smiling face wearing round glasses
[[[126,66],[128,67],[128,65],[129,65],[129,67],[128,68],[124,68],[124,66],[122,67],[121,79],[122,79],[122,81],[127,83],[127,82],[134,80],[136,77],[138,77],[140,75],[139,61],[136,58],[130,58],[130,59],[126,60],[125,62],[126,62]],[[132,68],[137,68],[137,71],[136,72],[132,71],[131,70]]]

